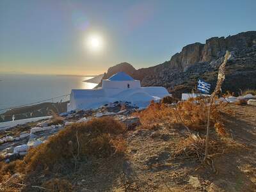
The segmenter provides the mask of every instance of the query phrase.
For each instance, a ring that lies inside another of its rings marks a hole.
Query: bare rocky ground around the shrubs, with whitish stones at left
[[[54,120],[47,120],[2,131],[0,154],[8,163],[22,158],[29,147],[40,145],[65,125],[114,116],[128,128],[125,157],[98,160],[97,169],[90,162],[84,163],[81,170],[66,178],[72,181],[74,191],[256,191],[256,107],[230,103],[228,108],[234,115],[224,115],[229,135],[223,138],[226,144],[221,146],[222,152],[212,157],[216,172],[212,166],[174,156],[177,143],[186,138],[182,125],[163,122],[141,129],[133,113],[143,109],[124,102],[63,113],[56,125],[52,125]]]

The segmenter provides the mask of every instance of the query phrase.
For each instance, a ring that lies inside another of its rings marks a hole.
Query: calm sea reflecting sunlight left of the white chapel
[[[97,84],[83,82],[91,78],[87,76],[0,74],[0,113],[4,113],[6,108],[15,108],[47,99],[49,99],[47,102],[67,101],[72,89],[94,88]],[[54,97],[59,98],[52,99]]]

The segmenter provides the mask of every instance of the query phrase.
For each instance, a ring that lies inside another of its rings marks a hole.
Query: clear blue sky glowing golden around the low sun
[[[145,68],[212,36],[256,30],[255,0],[0,0],[0,72]],[[100,49],[89,43],[100,39]]]

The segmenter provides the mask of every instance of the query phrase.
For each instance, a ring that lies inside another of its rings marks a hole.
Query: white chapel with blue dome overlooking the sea
[[[170,93],[164,87],[141,87],[140,81],[132,79],[125,72],[118,72],[109,79],[103,79],[102,88],[72,90],[68,111],[99,108],[115,101],[127,101],[138,107],[145,107],[151,100],[157,102],[167,95]]]

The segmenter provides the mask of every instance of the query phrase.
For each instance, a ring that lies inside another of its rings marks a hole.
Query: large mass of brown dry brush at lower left
[[[69,125],[49,138],[46,143],[31,148],[23,160],[9,164],[1,163],[0,183],[8,180],[4,190],[12,189],[15,184],[11,177],[19,172],[23,175],[22,182],[28,183],[28,191],[33,191],[33,184],[52,191],[72,191],[71,184],[61,179],[61,176],[76,172],[79,164],[88,159],[122,157],[127,147],[122,137],[124,131],[124,124],[109,117]],[[45,174],[51,176],[43,183],[38,177]],[[60,175],[60,178],[52,179],[56,178],[56,175]]]

